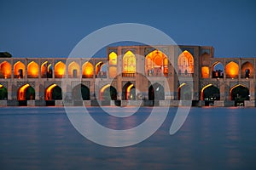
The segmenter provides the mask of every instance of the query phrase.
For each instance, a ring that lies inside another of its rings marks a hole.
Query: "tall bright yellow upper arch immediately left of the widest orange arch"
[[[131,51],[127,51],[123,57],[123,77],[135,77],[136,57]]]

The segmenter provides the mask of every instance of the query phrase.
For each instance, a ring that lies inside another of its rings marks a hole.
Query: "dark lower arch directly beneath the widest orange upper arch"
[[[149,100],[164,100],[165,99],[165,88],[160,83],[154,83],[148,88],[148,99]]]

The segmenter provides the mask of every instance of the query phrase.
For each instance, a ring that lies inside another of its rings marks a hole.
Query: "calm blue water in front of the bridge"
[[[125,129],[150,108],[129,118],[90,111],[104,126]],[[0,108],[0,169],[256,169],[256,109],[192,108],[171,136],[175,111],[142,143],[109,148],[80,135],[63,108]]]

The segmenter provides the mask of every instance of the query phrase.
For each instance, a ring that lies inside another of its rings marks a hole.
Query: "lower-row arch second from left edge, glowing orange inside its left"
[[[19,88],[17,96],[18,100],[34,100],[35,89],[29,84],[25,84]]]

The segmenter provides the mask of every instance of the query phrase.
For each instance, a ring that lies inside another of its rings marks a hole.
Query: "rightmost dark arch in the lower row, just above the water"
[[[244,101],[250,99],[250,91],[247,87],[237,84],[230,88],[230,100]]]

